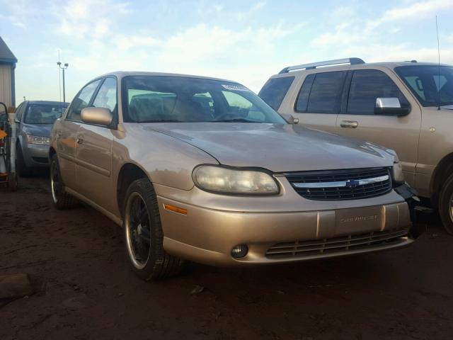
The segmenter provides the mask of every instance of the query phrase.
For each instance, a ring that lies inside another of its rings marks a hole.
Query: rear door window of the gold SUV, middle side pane
[[[344,71],[310,74],[300,89],[296,111],[338,113],[344,79]]]

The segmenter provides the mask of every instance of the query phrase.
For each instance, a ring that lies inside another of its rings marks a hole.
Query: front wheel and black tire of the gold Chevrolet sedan
[[[137,276],[159,280],[178,275],[184,261],[164,250],[159,205],[148,179],[137,179],[127,188],[123,212],[125,252]]]

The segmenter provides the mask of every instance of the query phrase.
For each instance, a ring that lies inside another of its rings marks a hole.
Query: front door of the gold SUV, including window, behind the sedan
[[[406,181],[415,184],[418,162],[418,137],[421,111],[395,74],[379,69],[350,71],[345,86],[337,133],[368,140],[394,149],[398,154]],[[403,117],[374,115],[377,98],[398,98],[402,108],[410,108]]]

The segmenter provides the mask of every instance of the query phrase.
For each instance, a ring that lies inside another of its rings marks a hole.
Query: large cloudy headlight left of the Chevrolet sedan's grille
[[[242,195],[275,195],[279,187],[264,171],[200,165],[193,170],[195,185],[206,191]]]

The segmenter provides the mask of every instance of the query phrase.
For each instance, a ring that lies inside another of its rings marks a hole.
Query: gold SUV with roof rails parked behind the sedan
[[[396,150],[408,183],[453,233],[452,66],[359,58],[302,64],[275,74],[259,96],[306,127]]]

